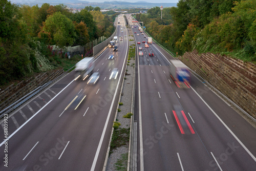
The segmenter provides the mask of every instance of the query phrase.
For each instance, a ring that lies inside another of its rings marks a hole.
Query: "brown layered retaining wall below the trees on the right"
[[[179,59],[256,118],[256,66],[218,54],[186,52]]]

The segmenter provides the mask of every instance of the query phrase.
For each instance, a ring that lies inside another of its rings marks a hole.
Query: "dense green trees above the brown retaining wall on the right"
[[[226,54],[256,61],[256,1],[180,0],[177,7],[136,14],[146,31],[174,53]]]

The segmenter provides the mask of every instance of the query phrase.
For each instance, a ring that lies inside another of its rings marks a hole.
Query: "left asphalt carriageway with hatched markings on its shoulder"
[[[72,71],[9,115],[9,138],[0,147],[8,167],[2,162],[0,170],[102,170],[129,52],[121,25],[124,20],[117,25],[123,36],[118,51],[108,48],[94,61],[96,85],[74,80]],[[116,79],[110,79],[115,68]]]

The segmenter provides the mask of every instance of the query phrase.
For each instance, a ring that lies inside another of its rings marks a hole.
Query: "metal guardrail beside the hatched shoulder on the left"
[[[43,86],[39,86],[38,88],[36,88],[35,90],[33,90],[32,92],[30,92],[29,94],[23,96],[22,98],[18,99],[17,101],[15,101],[14,103],[12,103],[11,105],[9,105],[7,108],[5,108],[4,110],[0,111],[0,118],[2,118],[5,114],[10,113],[11,111],[15,110],[16,108],[18,108],[20,105],[22,105],[23,103],[25,103],[27,100],[29,100],[30,98],[32,98],[33,96],[35,96],[37,93],[41,92],[42,90],[44,90],[45,88],[47,88],[48,86],[50,86],[52,83],[56,82],[58,79],[60,79],[61,77],[65,76],[70,70],[72,70],[75,66],[73,66],[72,68],[70,68],[68,71],[66,71],[65,73],[61,74],[60,76],[58,76],[57,78],[55,78],[52,81],[49,81],[47,83],[45,83]]]

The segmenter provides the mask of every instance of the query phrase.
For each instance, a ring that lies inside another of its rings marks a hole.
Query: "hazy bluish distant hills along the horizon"
[[[127,9],[127,8],[153,8],[153,7],[176,7],[176,3],[148,3],[144,1],[139,1],[136,3],[122,2],[122,1],[110,1],[103,3],[79,1],[79,0],[11,0],[11,3],[15,4],[25,4],[29,6],[42,4],[58,5],[64,4],[71,8],[84,8],[86,6],[100,7],[101,9]]]

